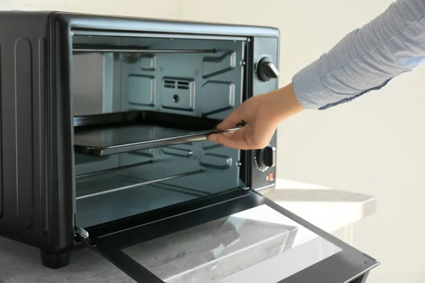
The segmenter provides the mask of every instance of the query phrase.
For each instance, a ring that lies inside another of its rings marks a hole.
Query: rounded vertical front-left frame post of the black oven
[[[50,250],[74,248],[75,180],[72,118],[72,43],[70,23],[56,12],[49,21],[48,87]]]

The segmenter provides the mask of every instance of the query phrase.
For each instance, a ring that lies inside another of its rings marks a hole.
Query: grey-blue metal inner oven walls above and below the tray
[[[74,117],[144,110],[222,120],[242,103],[244,41],[74,36],[73,44],[98,50],[74,52]],[[106,50],[128,46],[171,51]],[[216,51],[172,51],[187,49]],[[114,134],[93,139],[119,138]],[[210,141],[74,156],[80,227],[244,187],[240,151]]]

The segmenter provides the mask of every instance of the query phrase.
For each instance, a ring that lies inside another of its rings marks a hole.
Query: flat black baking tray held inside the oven
[[[84,122],[81,122],[84,121]],[[99,121],[108,121],[102,125]],[[74,151],[91,156],[122,154],[205,140],[220,121],[160,112],[118,113],[74,118]],[[241,122],[227,131],[243,127]],[[226,131],[226,132],[227,132]]]

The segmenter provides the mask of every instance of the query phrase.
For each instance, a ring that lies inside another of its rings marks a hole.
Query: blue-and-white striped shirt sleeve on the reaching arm
[[[425,62],[425,0],[398,0],[295,76],[305,109],[324,110],[382,88]]]

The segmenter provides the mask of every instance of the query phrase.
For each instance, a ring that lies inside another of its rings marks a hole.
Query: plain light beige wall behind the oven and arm
[[[99,3],[99,4],[96,4]],[[252,3],[252,4],[250,4]],[[1,9],[60,9],[280,28],[280,83],[391,0],[0,0]],[[278,173],[365,192],[378,213],[356,227],[355,246],[382,265],[368,282],[425,282],[425,68],[349,105],[283,122]]]

